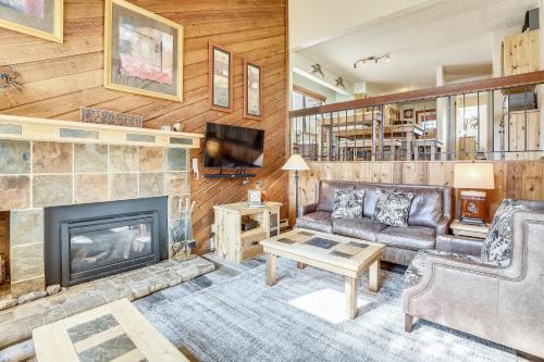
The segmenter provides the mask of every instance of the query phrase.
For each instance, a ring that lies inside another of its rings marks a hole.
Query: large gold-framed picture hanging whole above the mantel
[[[183,101],[183,26],[106,0],[104,87]]]

